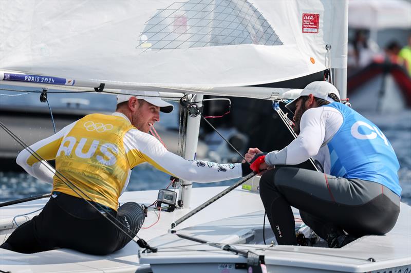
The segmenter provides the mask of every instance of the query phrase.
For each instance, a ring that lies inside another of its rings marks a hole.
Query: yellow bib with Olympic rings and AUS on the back
[[[80,119],[60,144],[55,169],[85,194],[81,197],[117,211],[130,170],[123,136],[133,128],[124,118],[91,114]],[[70,183],[69,183],[70,184]],[[53,191],[79,197],[54,176]]]

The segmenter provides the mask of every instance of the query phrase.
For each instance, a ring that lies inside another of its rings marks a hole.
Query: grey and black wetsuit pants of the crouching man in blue
[[[297,244],[291,206],[325,240],[343,230],[354,237],[383,235],[400,213],[400,197],[379,183],[294,167],[265,173],[259,192],[278,244]]]

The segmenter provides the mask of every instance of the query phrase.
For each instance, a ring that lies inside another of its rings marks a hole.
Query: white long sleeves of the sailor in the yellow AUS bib
[[[128,118],[123,114],[116,112],[113,115],[121,116],[128,120]],[[44,148],[44,146],[48,145],[50,142],[56,141],[59,138],[64,138],[76,122],[67,125],[57,134],[32,144],[30,148],[36,152],[39,152],[40,149]],[[123,143],[127,154],[127,160],[129,161],[131,167],[134,167],[142,162],[148,162],[160,171],[166,172],[175,177],[195,182],[216,182],[241,177],[240,163],[217,164],[214,162],[200,160],[185,160],[180,156],[167,151],[160,141],[152,135],[143,133],[137,129],[129,130],[123,137]],[[43,149],[41,153],[44,153],[44,150],[45,149]],[[55,158],[57,151],[57,149],[55,151],[47,151],[47,154],[53,153]],[[21,165],[23,169],[25,169],[31,176],[48,183],[52,183],[54,171],[50,171],[41,162],[36,162],[30,165],[27,162],[30,155],[31,153],[25,149],[18,154],[16,162]],[[48,159],[50,159],[50,156]],[[130,172],[131,171],[128,173],[128,178],[122,192],[124,192],[125,187],[128,184]]]

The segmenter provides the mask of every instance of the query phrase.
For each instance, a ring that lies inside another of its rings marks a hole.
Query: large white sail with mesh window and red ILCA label
[[[347,9],[332,0],[1,1],[0,70],[2,80],[211,93],[283,81],[346,68]]]

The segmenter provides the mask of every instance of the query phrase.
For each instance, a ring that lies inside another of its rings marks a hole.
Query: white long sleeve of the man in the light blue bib
[[[326,156],[326,144],[338,132],[343,124],[343,115],[331,107],[308,109],[301,117],[300,135],[283,150],[266,155],[268,165],[296,165],[310,157],[319,160],[324,172],[329,173],[329,158]],[[327,151],[326,151],[327,150]]]

